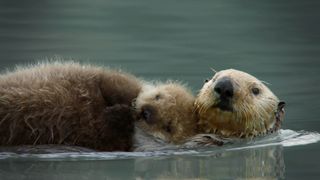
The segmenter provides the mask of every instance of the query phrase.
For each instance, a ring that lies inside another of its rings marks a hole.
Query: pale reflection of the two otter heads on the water
[[[281,146],[223,151],[210,156],[137,159],[135,176],[142,178],[283,178]]]

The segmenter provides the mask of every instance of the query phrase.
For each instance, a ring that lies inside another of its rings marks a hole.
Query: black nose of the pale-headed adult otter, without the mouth
[[[231,99],[233,97],[233,85],[231,79],[220,79],[215,85],[214,91],[220,95],[221,99]]]

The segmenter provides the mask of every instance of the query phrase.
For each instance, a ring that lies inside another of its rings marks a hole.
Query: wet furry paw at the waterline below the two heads
[[[197,134],[189,138],[183,144],[183,146],[187,148],[205,147],[205,146],[222,146],[230,142],[231,142],[230,139],[222,138],[215,134]]]

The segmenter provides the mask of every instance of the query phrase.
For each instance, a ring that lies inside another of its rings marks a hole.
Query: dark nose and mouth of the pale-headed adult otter
[[[221,78],[213,88],[218,95],[219,101],[217,107],[223,111],[233,111],[232,98],[234,95],[234,88],[230,78]]]

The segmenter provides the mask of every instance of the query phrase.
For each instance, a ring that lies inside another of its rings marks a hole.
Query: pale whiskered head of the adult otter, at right
[[[284,102],[257,78],[238,70],[217,72],[206,80],[195,102],[206,133],[250,137],[280,128]]]

